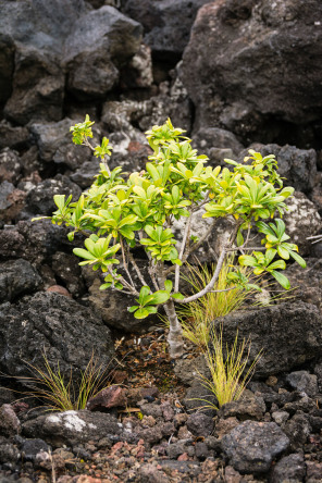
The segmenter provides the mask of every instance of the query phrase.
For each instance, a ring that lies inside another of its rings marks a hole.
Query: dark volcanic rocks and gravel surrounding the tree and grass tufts
[[[321,482],[322,245],[307,239],[322,227],[320,0],[0,0],[0,481]],[[223,321],[226,342],[237,326],[251,337],[250,362],[263,349],[242,401],[198,411],[202,359],[187,348],[174,366],[160,321],[138,323],[129,297],[78,267],[82,238],[32,222],[53,195],[90,186],[98,161],[69,132],[86,113],[94,140],[114,147],[111,168],[144,169],[144,132],[170,116],[211,165],[252,147],[295,187],[284,220],[308,262],[287,267],[296,297]],[[44,351],[75,380],[95,352],[114,364],[112,388],[83,412],[16,401],[10,389],[26,391],[26,362],[40,367]]]

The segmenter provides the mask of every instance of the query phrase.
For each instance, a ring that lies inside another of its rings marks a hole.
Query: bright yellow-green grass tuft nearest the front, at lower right
[[[206,405],[202,408],[220,409],[224,404],[238,400],[250,377],[253,374],[257,362],[261,355],[259,354],[249,369],[246,370],[250,342],[243,339],[238,345],[238,333],[231,348],[223,347],[223,333],[212,334],[212,342],[207,346],[206,360],[210,369],[210,379],[199,373],[202,385],[213,394],[218,400],[218,407],[209,403],[207,398],[200,398]]]

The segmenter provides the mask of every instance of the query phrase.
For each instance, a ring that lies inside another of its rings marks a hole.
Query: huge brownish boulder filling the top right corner
[[[276,131],[282,122],[283,132],[287,123],[318,120],[321,14],[319,0],[216,0],[203,5],[182,69],[196,107],[196,128],[219,126],[247,138],[257,132],[263,140],[263,123],[267,131]]]

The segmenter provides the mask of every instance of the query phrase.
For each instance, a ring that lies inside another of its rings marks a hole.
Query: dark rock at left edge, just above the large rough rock
[[[0,304],[33,294],[41,284],[41,277],[28,261],[18,259],[0,263]]]

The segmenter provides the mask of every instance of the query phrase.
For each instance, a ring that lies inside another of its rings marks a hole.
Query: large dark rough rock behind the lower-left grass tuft
[[[110,331],[99,314],[58,294],[37,293],[16,306],[4,304],[0,321],[0,367],[10,375],[30,375],[26,362],[44,367],[46,354],[66,379],[72,367],[76,381],[92,355],[103,367],[113,356]]]

